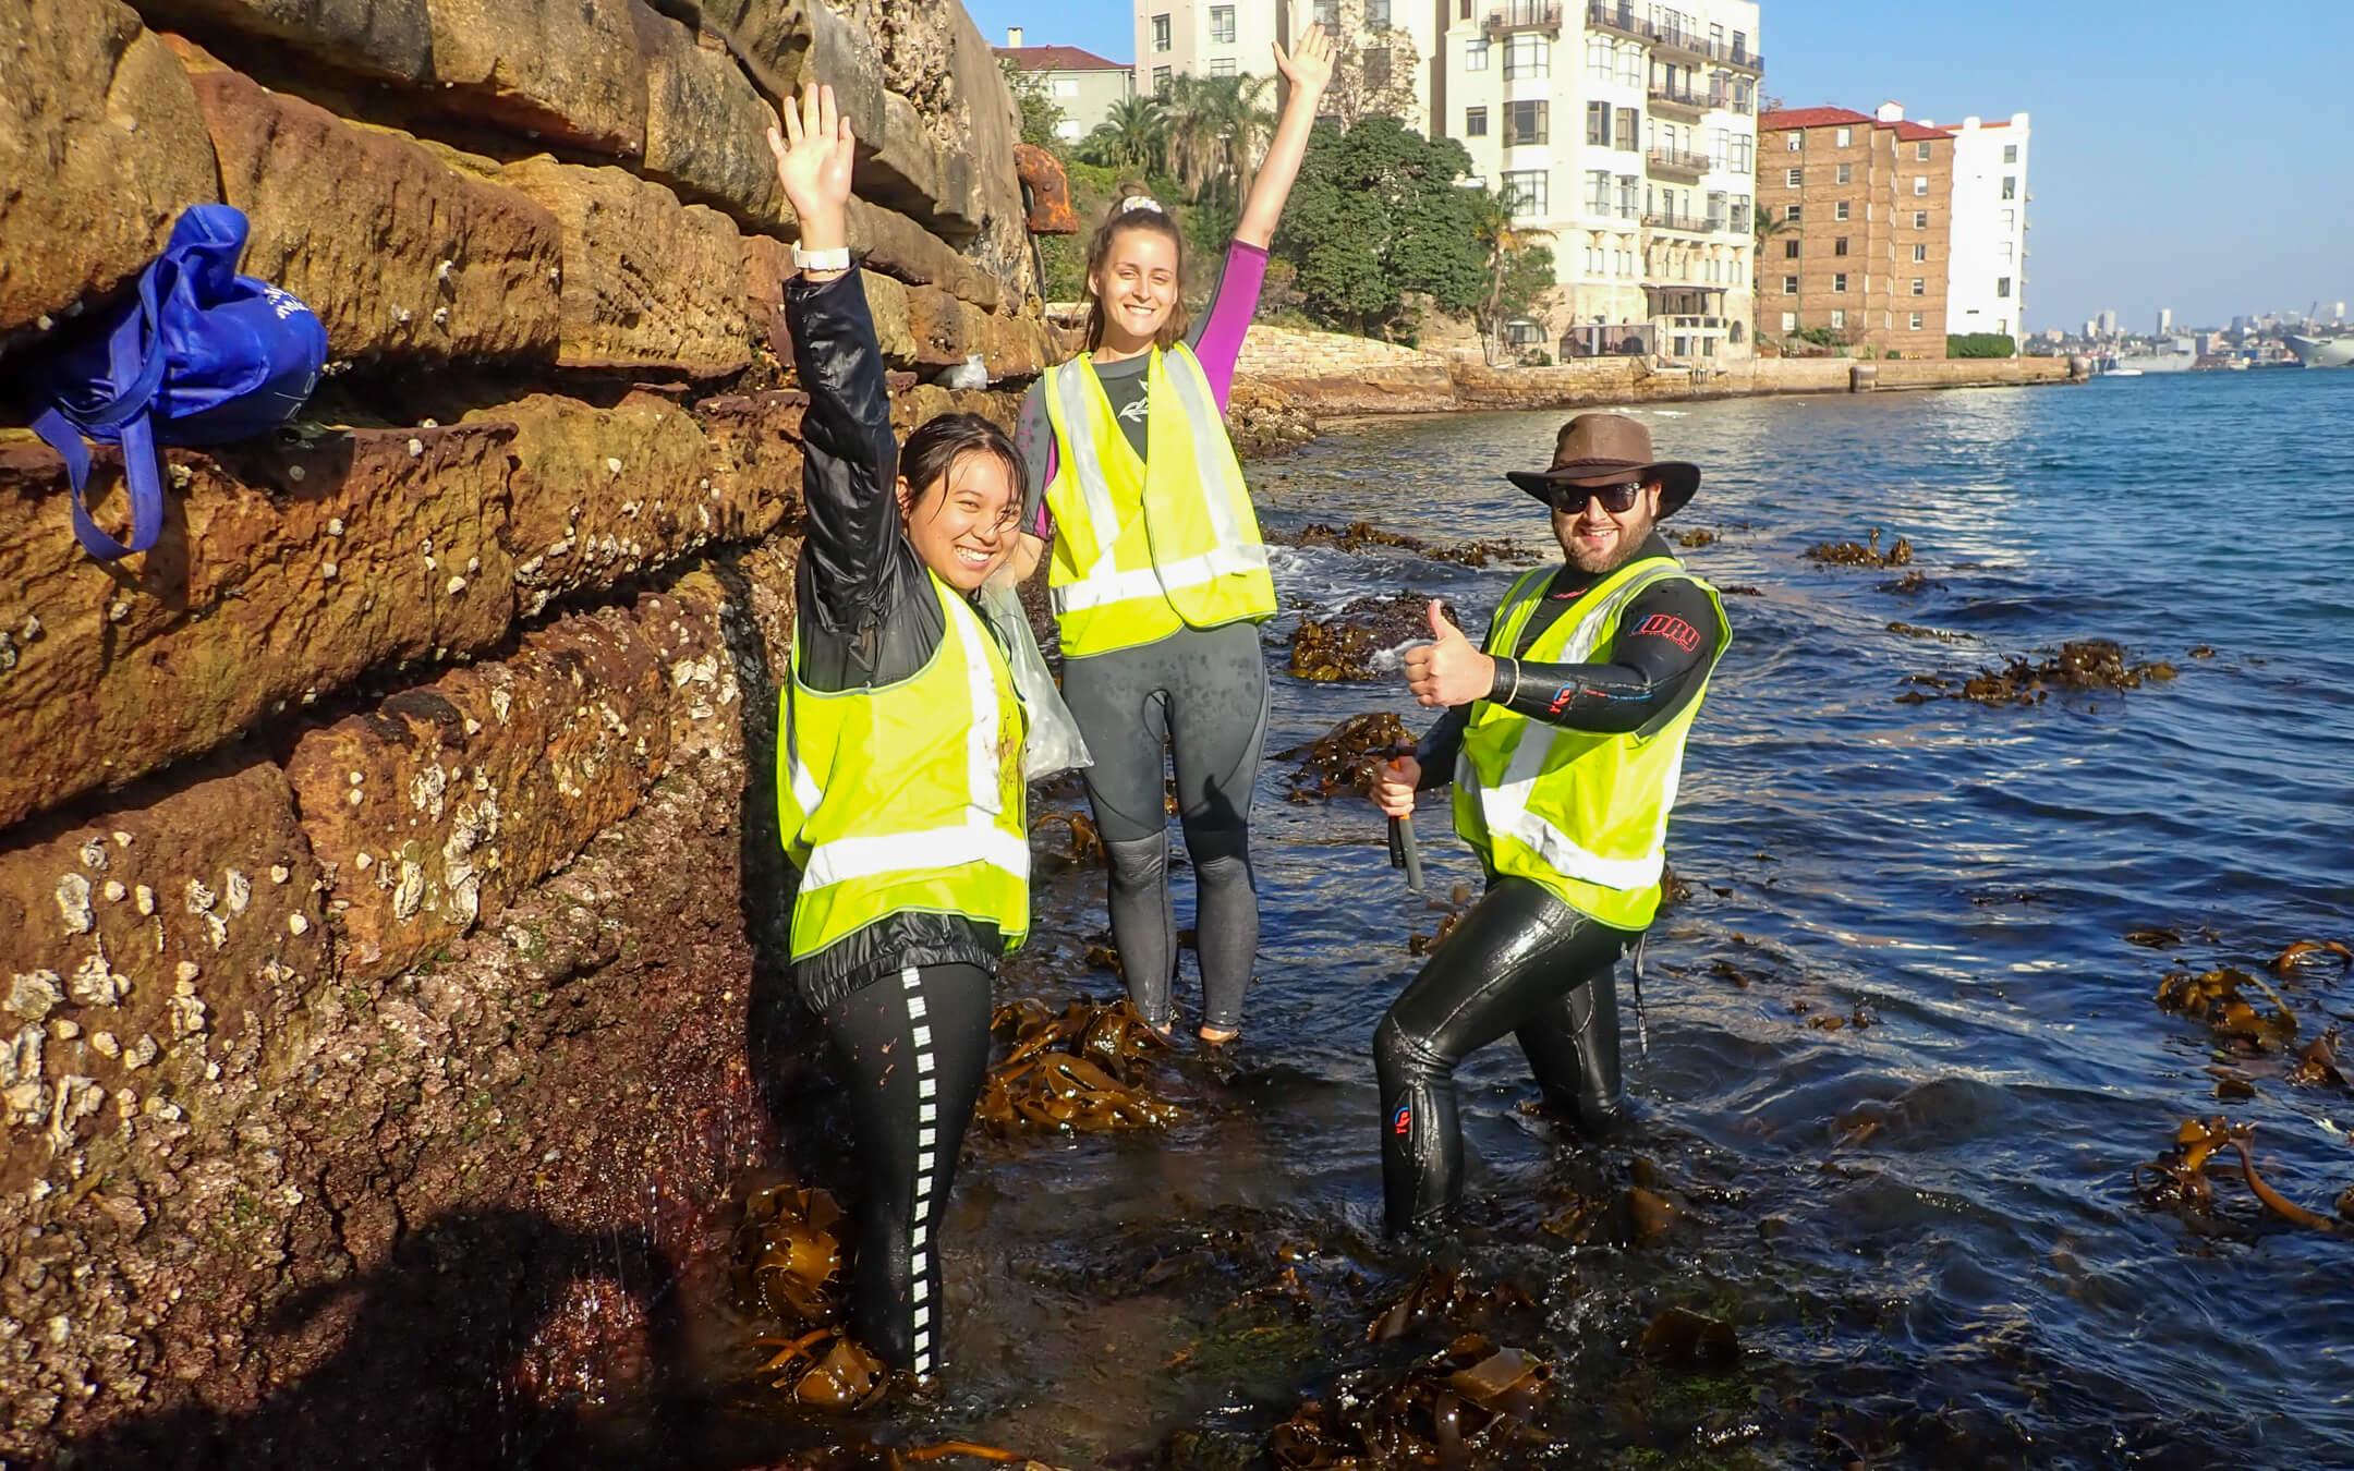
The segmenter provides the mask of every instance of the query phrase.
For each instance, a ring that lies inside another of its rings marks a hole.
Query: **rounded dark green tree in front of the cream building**
[[[1297,268],[1309,315],[1365,337],[1412,327],[1405,294],[1469,313],[1488,294],[1476,195],[1455,181],[1471,158],[1389,115],[1342,132],[1318,122],[1299,165],[1276,254]]]

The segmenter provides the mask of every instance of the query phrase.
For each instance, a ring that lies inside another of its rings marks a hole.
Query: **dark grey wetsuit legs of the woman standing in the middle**
[[[1184,628],[1135,650],[1071,659],[1062,697],[1095,758],[1080,774],[1111,866],[1111,944],[1128,996],[1146,1021],[1170,1024],[1177,916],[1161,772],[1163,751],[1172,751],[1177,817],[1193,859],[1201,1021],[1238,1029],[1259,953],[1259,894],[1250,876],[1250,796],[1266,748],[1259,628]]]

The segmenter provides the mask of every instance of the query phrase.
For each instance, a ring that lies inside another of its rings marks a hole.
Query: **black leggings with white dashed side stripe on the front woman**
[[[857,1191],[850,1332],[895,1370],[939,1372],[939,1219],[989,1071],[989,972],[906,967],[824,1012],[850,1066]]]

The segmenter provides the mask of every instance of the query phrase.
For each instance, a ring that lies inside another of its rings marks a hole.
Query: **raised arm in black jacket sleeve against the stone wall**
[[[850,242],[850,162],[857,139],[833,108],[831,87],[807,87],[770,129],[777,179],[800,214],[800,249],[822,254]],[[800,600],[826,626],[855,631],[880,607],[883,570],[899,537],[899,447],[890,433],[890,391],[866,289],[855,271],[800,271],[784,289],[793,362],[810,393],[803,414],[803,499],[810,508],[810,584]]]

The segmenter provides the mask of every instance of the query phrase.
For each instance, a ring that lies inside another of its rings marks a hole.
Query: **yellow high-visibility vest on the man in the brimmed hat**
[[[1733,643],[1716,588],[1676,558],[1638,558],[1587,591],[1537,643],[1521,631],[1544,603],[1551,567],[1521,577],[1485,652],[1544,664],[1608,664],[1620,612],[1655,581],[1683,577],[1716,607],[1716,659]],[[1693,699],[1660,730],[1603,734],[1530,720],[1485,699],[1471,706],[1455,760],[1455,831],[1478,850],[1490,873],[1544,885],[1570,908],[1620,930],[1643,930],[1660,913],[1667,864],[1667,814],[1683,777],[1683,739],[1709,692],[1702,673]]]

